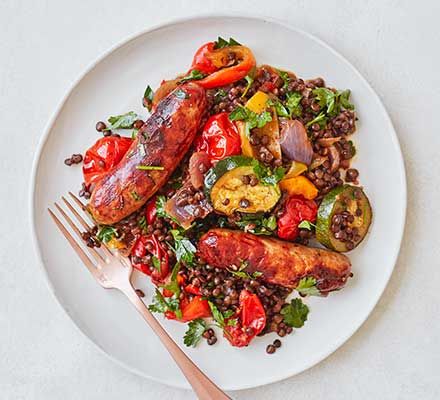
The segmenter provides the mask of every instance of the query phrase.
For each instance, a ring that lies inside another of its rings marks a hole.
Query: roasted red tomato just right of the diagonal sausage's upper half
[[[228,113],[213,115],[196,139],[196,151],[208,154],[211,161],[241,154],[240,134]]]

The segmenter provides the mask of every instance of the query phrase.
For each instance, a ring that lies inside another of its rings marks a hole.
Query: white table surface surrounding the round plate
[[[0,0],[0,399],[194,398],[123,370],[75,328],[35,262],[28,186],[49,116],[99,54],[171,18],[227,10],[288,20],[361,71],[395,124],[409,194],[395,272],[361,329],[309,371],[233,397],[439,398],[439,2]]]

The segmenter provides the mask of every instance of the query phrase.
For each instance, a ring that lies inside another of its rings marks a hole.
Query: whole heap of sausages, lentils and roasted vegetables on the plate
[[[350,90],[259,66],[232,38],[168,78],[145,90],[145,116],[99,121],[103,137],[65,160],[83,162],[79,194],[96,222],[83,237],[151,278],[149,309],[187,323],[187,346],[213,345],[219,330],[237,347],[284,337],[306,322],[307,296],[346,284],[342,253],[371,224],[351,167]]]

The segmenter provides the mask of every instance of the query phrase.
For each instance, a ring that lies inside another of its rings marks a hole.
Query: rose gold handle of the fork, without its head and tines
[[[150,325],[151,329],[153,329],[154,333],[165,345],[200,400],[231,400],[231,398],[212,382],[181,350],[153,314],[151,314],[132,287],[124,290],[123,293],[133,303],[136,310],[144,317],[145,321],[147,321],[148,325]]]

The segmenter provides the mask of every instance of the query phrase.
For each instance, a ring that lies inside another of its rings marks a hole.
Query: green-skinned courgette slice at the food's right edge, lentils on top
[[[335,232],[338,231],[338,228],[334,228],[340,226],[336,216],[343,215],[344,212],[345,217],[342,218],[345,227],[339,230],[339,232],[344,231],[341,234]],[[367,235],[372,216],[373,212],[368,197],[360,187],[343,185],[334,188],[322,199],[319,206],[316,220],[316,239],[325,247],[340,253],[350,251]],[[347,218],[349,219],[347,220]],[[349,231],[347,228],[350,228]]]

